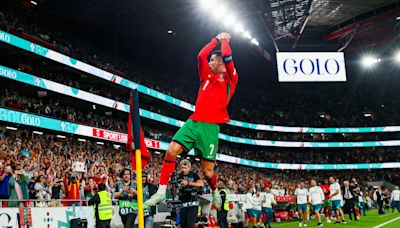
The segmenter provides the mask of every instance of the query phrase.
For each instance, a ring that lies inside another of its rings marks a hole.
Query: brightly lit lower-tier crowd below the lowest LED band
[[[99,145],[89,140],[82,142],[73,137],[63,139],[52,134],[38,135],[29,130],[12,131],[2,127],[0,144],[2,199],[18,200],[14,186],[18,183],[24,199],[87,200],[100,182],[106,183],[113,193],[115,184],[121,180],[120,171],[130,166],[129,153],[124,148]],[[74,172],[74,162],[85,164],[84,172]],[[197,162],[194,160],[193,163],[193,170],[199,171]],[[149,182],[158,183],[161,164],[162,155],[152,152],[145,169]],[[219,178],[230,183],[232,192],[239,194],[246,193],[250,186],[257,189],[268,186],[279,190],[281,195],[293,195],[300,180],[314,178],[322,182],[330,175],[339,180],[357,177],[364,189],[368,181],[395,181],[400,178],[396,170],[275,171],[237,165],[234,168],[232,164],[223,162],[218,162],[216,171]],[[209,192],[207,188],[204,192]],[[9,206],[16,205],[17,202],[9,203]]]

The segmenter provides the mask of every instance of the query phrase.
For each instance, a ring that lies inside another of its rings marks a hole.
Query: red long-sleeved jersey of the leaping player
[[[226,110],[235,93],[238,75],[232,61],[232,51],[227,40],[221,41],[221,53],[226,72],[222,78],[213,74],[208,67],[207,57],[218,45],[214,38],[201,49],[198,55],[198,68],[201,86],[197,95],[196,108],[190,119],[206,123],[228,123],[230,121]]]

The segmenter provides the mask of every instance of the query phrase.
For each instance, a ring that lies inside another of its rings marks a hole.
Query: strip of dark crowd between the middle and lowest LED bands
[[[0,89],[0,107],[21,110],[61,120],[67,120],[93,127],[126,132],[126,122],[117,118],[100,115],[95,111],[85,112],[72,106],[62,106],[61,100],[49,98],[33,98],[22,96],[16,91]],[[171,141],[174,131],[168,127],[154,124],[143,124],[145,136],[163,142]],[[299,135],[299,134],[297,134]],[[297,135],[294,135],[297,137]],[[301,134],[300,134],[301,135]],[[296,140],[296,139],[295,139]],[[297,139],[298,140],[298,139]],[[260,148],[249,147],[243,149],[241,144],[233,144],[221,141],[219,153],[265,162],[277,163],[369,163],[390,162],[396,156],[395,148],[343,148],[323,149],[324,153],[316,149],[287,149],[287,148]],[[351,156],[350,156],[351,154]],[[304,156],[308,157],[304,160]]]

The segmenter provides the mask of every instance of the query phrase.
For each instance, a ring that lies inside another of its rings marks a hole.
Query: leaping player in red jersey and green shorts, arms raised
[[[145,206],[154,206],[165,199],[167,184],[175,169],[176,157],[183,151],[194,149],[195,154],[202,158],[201,168],[212,189],[213,203],[215,207],[221,207],[217,175],[214,172],[219,124],[230,121],[226,108],[238,82],[229,41],[228,33],[220,33],[199,52],[198,70],[201,86],[197,95],[196,109],[172,139],[161,168],[158,191],[145,202]],[[221,51],[211,53],[219,43]],[[210,54],[210,61],[207,61]]]

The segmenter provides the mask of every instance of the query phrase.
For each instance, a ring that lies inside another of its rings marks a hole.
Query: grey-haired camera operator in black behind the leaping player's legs
[[[180,219],[182,228],[192,228],[196,222],[199,209],[199,192],[203,188],[203,181],[197,173],[191,171],[189,160],[182,160],[178,174],[179,200],[182,201]]]

